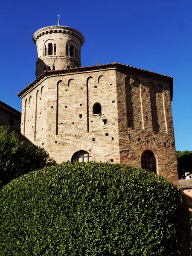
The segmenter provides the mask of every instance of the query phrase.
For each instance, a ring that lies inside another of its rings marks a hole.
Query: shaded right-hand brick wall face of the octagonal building
[[[141,168],[151,150],[157,174],[178,184],[169,81],[117,71],[120,163]]]

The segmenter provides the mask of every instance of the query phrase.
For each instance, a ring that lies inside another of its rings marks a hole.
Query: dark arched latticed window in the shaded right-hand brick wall
[[[148,172],[156,173],[156,159],[152,151],[146,150],[141,157],[141,167]]]

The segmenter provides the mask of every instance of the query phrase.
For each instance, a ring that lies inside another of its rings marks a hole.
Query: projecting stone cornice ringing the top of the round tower
[[[41,36],[47,35],[47,34],[70,34],[75,36],[76,38],[79,39],[81,42],[81,46],[84,44],[84,36],[79,32],[77,29],[70,28],[68,26],[47,26],[41,29],[38,29],[34,34],[33,34],[33,41],[36,44],[36,41],[38,38]]]

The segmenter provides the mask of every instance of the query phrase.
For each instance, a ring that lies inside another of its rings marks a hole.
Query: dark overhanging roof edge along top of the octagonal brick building
[[[97,65],[97,66],[88,66],[88,67],[76,67],[76,68],[70,68],[67,70],[46,70],[44,71],[41,76],[38,76],[31,84],[29,84],[26,88],[24,88],[20,93],[17,94],[20,98],[32,87],[35,87],[35,85],[39,82],[42,81],[45,77],[47,76],[52,76],[52,75],[61,75],[61,74],[67,74],[67,73],[78,73],[78,72],[86,72],[86,71],[91,71],[91,70],[102,70],[102,69],[108,69],[108,68],[116,68],[116,69],[126,69],[128,71],[139,71],[143,75],[153,75],[156,76],[159,79],[168,79],[169,84],[170,84],[170,96],[171,96],[171,101],[172,101],[172,94],[173,94],[173,77],[172,76],[166,76],[160,73],[155,73],[149,70],[143,70],[138,67],[132,67],[129,65],[121,64],[118,62],[113,62],[111,64],[102,64],[102,65]]]

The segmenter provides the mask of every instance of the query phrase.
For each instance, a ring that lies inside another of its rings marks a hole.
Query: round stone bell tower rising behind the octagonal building
[[[81,46],[84,36],[67,26],[47,26],[33,35],[37,46],[38,60],[35,75],[45,70],[65,70],[81,67]]]

